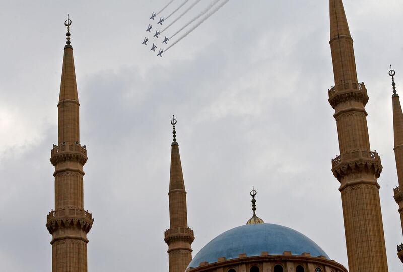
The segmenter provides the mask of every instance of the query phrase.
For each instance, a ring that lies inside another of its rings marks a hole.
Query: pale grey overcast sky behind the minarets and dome
[[[202,0],[168,36],[210,1]],[[2,269],[51,271],[45,223],[54,208],[49,158],[57,142],[66,13],[73,21],[81,143],[89,157],[84,207],[95,218],[89,271],[168,271],[163,237],[172,114],[196,237],[193,256],[218,234],[245,224],[255,186],[259,217],[302,232],[347,266],[339,183],[331,172],[339,150],[327,102],[334,83],[328,1],[230,0],[157,58],[151,44],[141,42],[151,13],[167,2],[0,1]],[[344,2],[358,78],[370,97],[371,149],[382,157],[389,271],[401,271],[387,73],[392,64],[403,94],[403,3]]]

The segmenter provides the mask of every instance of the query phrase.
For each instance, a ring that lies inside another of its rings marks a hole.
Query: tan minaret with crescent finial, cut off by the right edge
[[[394,200],[399,206],[401,228],[403,230],[403,112],[401,111],[400,98],[396,91],[394,75],[396,72],[390,66],[389,76],[392,77],[392,107],[393,107],[393,132],[394,132],[394,157],[396,160],[397,179],[399,186],[394,188]],[[402,190],[400,190],[402,188]],[[403,262],[403,244],[397,246],[397,255]]]

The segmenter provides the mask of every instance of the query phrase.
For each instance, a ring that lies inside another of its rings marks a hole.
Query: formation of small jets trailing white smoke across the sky
[[[168,28],[170,28],[172,25],[174,25],[177,21],[179,21],[183,16],[185,16],[190,10],[192,10],[198,3],[205,3],[204,1],[202,2],[201,0],[181,0],[181,3],[176,6],[176,8],[172,9],[170,13],[165,14],[166,17],[161,16],[160,14],[165,11],[173,2],[178,2],[179,0],[169,0],[169,2],[159,11],[159,12],[153,12],[150,20],[155,20],[155,17],[157,15],[160,16],[160,20],[158,21],[157,25],[160,24],[161,26],[163,25],[162,23],[165,22],[166,20],[170,19],[171,16],[175,15],[177,11],[181,10],[182,7],[185,7],[185,10],[178,15],[176,18],[171,18],[169,21],[171,21],[163,30],[159,31],[158,29],[155,31],[155,34],[153,38],[157,39],[158,42],[158,35],[162,34],[165,32]],[[176,41],[174,41],[172,44],[170,44],[165,50],[159,49],[159,52],[157,56],[162,57],[162,54],[168,51],[172,46],[180,42],[183,38],[185,38],[187,35],[189,35],[193,30],[195,30],[197,27],[199,27],[203,22],[205,22],[207,19],[209,19],[213,14],[215,14],[218,10],[220,10],[225,4],[227,4],[230,0],[210,0],[210,3],[204,7],[203,10],[201,10],[197,16],[193,17],[190,21],[186,22],[182,27],[178,28],[178,30],[171,36],[168,37],[168,35],[165,35],[164,40],[162,43],[165,43],[168,46],[168,41],[175,37],[176,35],[182,33],[182,36],[178,37]],[[190,2],[190,5],[186,4]],[[162,14],[164,15],[164,14]],[[150,32],[153,29],[153,26],[151,24],[148,25],[146,32]],[[144,41],[142,44],[147,45],[147,42],[149,39],[147,37],[144,38]],[[162,44],[161,43],[161,44]],[[157,43],[153,42],[153,46],[151,47],[150,51],[156,52],[157,48]]]

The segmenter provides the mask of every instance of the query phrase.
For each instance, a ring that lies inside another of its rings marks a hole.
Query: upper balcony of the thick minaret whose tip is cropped
[[[344,82],[340,83],[328,90],[329,103],[334,108],[341,102],[355,100],[360,101],[364,105],[368,103],[367,88],[364,82]]]

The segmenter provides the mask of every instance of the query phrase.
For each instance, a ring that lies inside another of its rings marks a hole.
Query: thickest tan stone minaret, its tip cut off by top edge
[[[340,156],[332,160],[332,172],[340,182],[349,271],[386,272],[377,182],[382,165],[370,149],[367,89],[357,80],[353,39],[342,0],[330,0],[330,46],[335,86],[328,92],[328,101],[335,110],[340,150]]]

